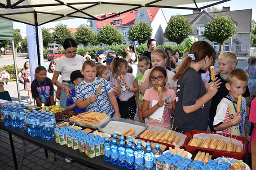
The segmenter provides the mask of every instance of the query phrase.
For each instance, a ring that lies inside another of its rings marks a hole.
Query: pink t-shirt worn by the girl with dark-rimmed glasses
[[[176,93],[174,92],[173,89],[167,88],[167,91],[163,92],[163,100],[165,100],[165,98],[169,98],[168,102],[173,102],[176,100]],[[159,101],[158,91],[155,91],[153,88],[147,89],[144,94],[143,100],[149,101],[150,102],[149,108],[151,108],[153,100]],[[156,119],[152,119],[152,118],[148,117],[147,124],[148,125],[156,125],[156,126],[160,126],[160,127],[168,127],[171,125],[170,120],[171,119],[169,117],[168,109],[164,108],[162,121],[158,121]]]

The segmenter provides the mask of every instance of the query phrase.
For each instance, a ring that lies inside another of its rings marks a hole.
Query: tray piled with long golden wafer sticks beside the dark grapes
[[[97,126],[108,121],[110,117],[105,113],[88,111],[76,116],[71,116],[69,119],[71,123],[75,123],[79,126],[97,129]]]

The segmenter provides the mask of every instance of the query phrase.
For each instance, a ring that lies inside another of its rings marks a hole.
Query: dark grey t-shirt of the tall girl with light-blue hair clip
[[[177,82],[177,102],[173,124],[177,127],[177,132],[207,131],[210,102],[204,103],[203,109],[199,108],[190,114],[186,114],[183,110],[183,106],[194,105],[196,100],[205,93],[201,74],[193,68],[188,68]]]

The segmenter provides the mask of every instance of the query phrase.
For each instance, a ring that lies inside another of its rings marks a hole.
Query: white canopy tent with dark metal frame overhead
[[[0,19],[35,26],[36,35],[38,35],[37,26],[52,21],[73,18],[103,21],[128,11],[156,7],[201,10],[227,1],[230,0],[0,0]],[[211,4],[198,7],[197,3],[201,2],[211,2]],[[101,20],[95,17],[104,13],[116,14]],[[38,36],[36,39],[38,44]],[[40,65],[39,45],[37,51]]]

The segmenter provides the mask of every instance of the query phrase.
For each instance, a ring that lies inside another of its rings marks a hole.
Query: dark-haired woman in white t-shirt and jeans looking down
[[[65,39],[63,47],[65,49],[65,55],[56,62],[52,82],[53,85],[62,89],[60,105],[62,108],[66,108],[66,98],[71,98],[71,89],[75,87],[73,82],[70,81],[71,72],[82,69],[84,58],[76,54],[77,43],[72,38]],[[57,81],[60,74],[62,75],[62,83]]]

